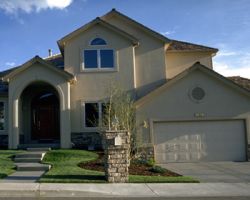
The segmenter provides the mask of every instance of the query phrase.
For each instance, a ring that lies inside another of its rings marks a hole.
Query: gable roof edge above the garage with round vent
[[[229,85],[233,89],[238,90],[239,92],[243,93],[244,95],[250,97],[250,90],[243,88],[242,86],[236,84],[235,82],[231,81],[230,79],[215,72],[214,70],[209,69],[208,67],[200,64],[200,62],[196,62],[195,64],[192,65],[192,67],[190,67],[190,68],[186,69],[185,71],[183,71],[182,73],[178,74],[173,79],[170,79],[164,85],[158,87],[157,89],[153,90],[152,92],[150,92],[147,95],[143,96],[142,98],[138,99],[135,102],[135,106],[140,107],[141,105],[143,105],[144,103],[146,103],[147,101],[152,99],[152,97],[160,95],[168,87],[175,84],[177,81],[184,78],[185,76],[187,76],[188,74],[190,74],[191,72],[193,72],[195,70],[201,70],[202,72],[204,72],[204,73],[206,73],[206,74],[208,74],[216,79],[223,81],[225,84]]]

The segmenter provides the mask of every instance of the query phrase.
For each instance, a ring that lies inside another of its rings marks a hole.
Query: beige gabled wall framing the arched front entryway
[[[61,75],[39,63],[33,64],[9,81],[9,148],[17,148],[19,138],[24,134],[20,109],[22,91],[37,81],[52,85],[59,94],[61,147],[70,148],[70,85]]]

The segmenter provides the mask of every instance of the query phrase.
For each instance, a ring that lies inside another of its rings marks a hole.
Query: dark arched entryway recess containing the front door
[[[60,100],[53,86],[41,81],[28,85],[21,109],[21,145],[60,144]]]

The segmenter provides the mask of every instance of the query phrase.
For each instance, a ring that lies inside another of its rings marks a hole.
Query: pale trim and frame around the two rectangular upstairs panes
[[[84,62],[84,52],[85,51],[97,51],[97,68],[85,68],[85,62]],[[112,50],[113,51],[113,67],[101,67],[101,50]],[[82,49],[80,51],[81,56],[81,72],[97,72],[97,71],[117,71],[117,55],[116,51],[112,48],[86,48]]]

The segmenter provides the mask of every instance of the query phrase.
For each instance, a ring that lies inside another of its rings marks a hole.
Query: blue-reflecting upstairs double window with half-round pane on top
[[[83,52],[83,69],[114,68],[114,50],[104,48],[106,41],[95,38],[90,42],[91,49]]]

